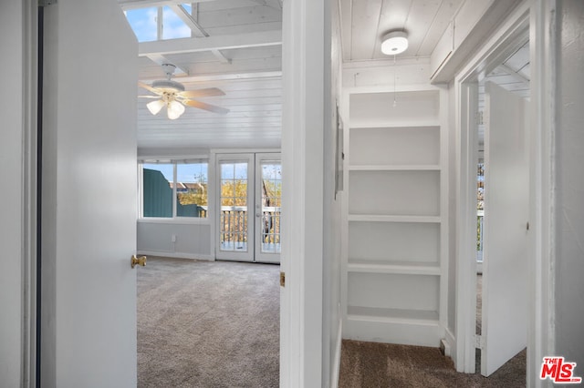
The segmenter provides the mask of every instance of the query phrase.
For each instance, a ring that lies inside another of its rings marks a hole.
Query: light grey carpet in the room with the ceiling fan
[[[139,387],[277,387],[279,266],[148,258]]]

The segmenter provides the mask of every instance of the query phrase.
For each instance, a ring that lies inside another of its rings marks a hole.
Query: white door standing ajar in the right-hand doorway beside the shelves
[[[481,373],[527,346],[527,102],[485,83],[484,342]]]

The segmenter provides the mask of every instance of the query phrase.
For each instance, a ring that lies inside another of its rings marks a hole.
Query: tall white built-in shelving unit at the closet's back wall
[[[344,338],[438,346],[443,337],[443,93],[347,93]]]

